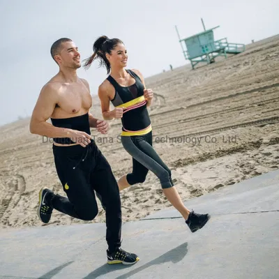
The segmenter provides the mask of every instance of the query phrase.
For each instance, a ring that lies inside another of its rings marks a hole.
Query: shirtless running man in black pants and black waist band
[[[38,217],[43,223],[49,223],[56,209],[80,220],[93,220],[98,214],[96,192],[106,209],[107,263],[135,264],[139,257],[120,248],[121,200],[116,179],[91,139],[91,127],[106,134],[108,124],[89,112],[92,105],[89,84],[77,77],[80,53],[68,38],[56,40],[50,52],[59,73],[40,91],[31,116],[30,132],[54,139],[56,172],[67,197],[42,188]],[[52,124],[47,123],[49,118]]]

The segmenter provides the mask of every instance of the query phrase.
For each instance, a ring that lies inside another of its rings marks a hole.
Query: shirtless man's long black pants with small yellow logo
[[[81,220],[93,220],[98,214],[96,194],[106,209],[106,240],[110,252],[121,246],[121,200],[119,188],[96,143],[86,147],[53,145],[54,162],[67,197],[54,195],[57,211]]]

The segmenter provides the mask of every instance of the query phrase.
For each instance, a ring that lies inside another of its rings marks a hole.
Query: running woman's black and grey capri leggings
[[[151,170],[163,189],[174,186],[172,172],[152,147],[152,131],[146,135],[121,136],[124,149],[133,157],[133,172],[127,174],[130,185],[142,183]]]

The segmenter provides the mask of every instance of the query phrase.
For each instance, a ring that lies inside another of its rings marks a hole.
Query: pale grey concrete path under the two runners
[[[123,225],[133,266],[106,263],[105,224],[1,230],[0,278],[279,278],[279,171],[185,204],[211,213],[194,234],[172,209]]]

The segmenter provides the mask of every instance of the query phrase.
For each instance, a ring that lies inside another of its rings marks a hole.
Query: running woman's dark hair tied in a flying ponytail
[[[100,66],[105,66],[105,68],[107,68],[107,74],[109,74],[110,62],[107,60],[105,54],[111,54],[114,47],[119,43],[123,44],[123,42],[117,38],[109,39],[107,36],[100,36],[93,44],[93,54],[84,60],[84,68],[88,69],[94,60],[100,59]]]

